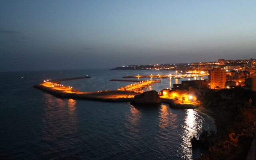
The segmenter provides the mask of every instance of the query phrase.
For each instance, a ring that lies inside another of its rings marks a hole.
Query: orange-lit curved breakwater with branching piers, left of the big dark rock
[[[87,78],[88,76],[86,76]],[[81,79],[78,78],[66,78],[64,80]],[[132,80],[133,81],[133,80]],[[158,80],[146,80],[138,83],[130,84],[117,90],[105,90],[97,92],[80,92],[74,89],[72,86],[64,86],[59,83],[60,80],[44,80],[42,84],[35,85],[34,88],[38,88],[50,94],[53,94],[62,98],[75,98],[84,100],[99,100],[99,101],[110,101],[110,102],[128,102],[135,95],[143,92],[143,89],[152,86],[153,83],[160,82]],[[130,80],[129,80],[130,82]]]

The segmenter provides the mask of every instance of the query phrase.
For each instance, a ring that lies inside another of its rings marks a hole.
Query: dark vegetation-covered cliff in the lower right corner
[[[198,159],[246,159],[255,136],[256,93],[243,88],[209,90],[202,103],[215,113],[218,142]]]

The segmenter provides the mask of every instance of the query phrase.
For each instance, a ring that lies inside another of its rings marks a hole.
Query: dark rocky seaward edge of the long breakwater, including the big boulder
[[[72,99],[83,99],[83,100],[94,100],[94,101],[105,101],[105,102],[135,102],[139,104],[169,104],[171,108],[178,109],[194,109],[197,108],[195,105],[190,104],[178,104],[175,100],[160,98],[156,91],[148,91],[143,94],[130,91],[121,90],[110,90],[104,92],[71,92],[67,93],[62,90],[56,90],[54,88],[46,87],[42,84],[37,84],[34,88],[40,89],[44,92],[52,94],[61,98],[72,98]],[[154,94],[154,95],[153,95]],[[138,96],[136,96],[138,95]],[[134,98],[135,96],[135,98]],[[158,97],[156,97],[158,96]],[[153,97],[153,98],[152,98]]]

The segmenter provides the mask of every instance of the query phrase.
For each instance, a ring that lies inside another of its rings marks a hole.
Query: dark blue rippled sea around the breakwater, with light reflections
[[[60,72],[62,72],[60,74]],[[190,138],[216,130],[211,118],[195,110],[132,106],[57,98],[32,86],[45,79],[91,76],[65,81],[81,91],[111,89],[126,75],[175,74],[144,70],[60,70],[0,72],[0,159],[4,160],[166,160],[193,159]],[[24,76],[25,78],[21,78]],[[146,78],[142,78],[146,79]],[[163,79],[153,90],[182,79]],[[106,86],[105,86],[106,84]]]

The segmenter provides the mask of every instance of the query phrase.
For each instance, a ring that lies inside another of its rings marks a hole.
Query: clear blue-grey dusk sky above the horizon
[[[1,0],[0,71],[256,58],[256,0]]]

